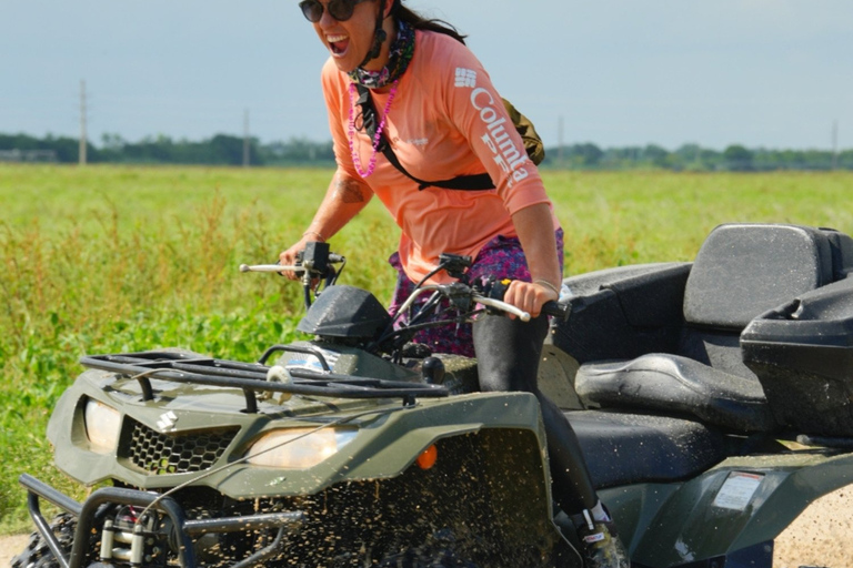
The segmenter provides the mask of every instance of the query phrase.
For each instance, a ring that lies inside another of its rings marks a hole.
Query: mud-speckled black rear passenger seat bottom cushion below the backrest
[[[761,384],[679,355],[588,363],[575,376],[588,405],[676,413],[736,432],[772,432]]]

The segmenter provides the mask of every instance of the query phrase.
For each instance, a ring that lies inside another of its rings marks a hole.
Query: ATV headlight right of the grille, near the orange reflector
[[[272,430],[252,445],[247,462],[255,466],[307,469],[337,454],[357,433],[351,428]]]

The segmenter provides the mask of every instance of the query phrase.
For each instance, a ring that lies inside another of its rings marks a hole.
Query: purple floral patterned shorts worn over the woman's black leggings
[[[560,273],[563,271],[563,230],[558,229],[554,233],[556,239],[556,254],[560,261]],[[397,287],[391,301],[389,311],[395,314],[398,308],[414,291],[415,283],[409,280],[403,272],[403,265],[400,263],[400,254],[394,253],[388,262],[397,268]],[[484,280],[490,276],[499,278],[511,278],[530,282],[530,271],[524,252],[521,250],[521,242],[516,237],[506,237],[498,235],[489,241],[474,258],[473,264],[468,270],[470,281]],[[424,296],[415,303],[414,311],[428,300]],[[444,302],[442,307],[446,307]],[[398,321],[398,327],[408,323],[408,315],[403,314]],[[429,321],[429,318],[426,320]],[[450,353],[454,355],[474,356],[474,342],[471,332],[471,324],[442,325],[422,329],[412,339],[414,343],[429,345],[433,353]]]

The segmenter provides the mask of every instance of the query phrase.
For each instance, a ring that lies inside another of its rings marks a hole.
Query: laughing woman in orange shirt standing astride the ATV
[[[299,6],[331,55],[322,87],[338,170],[280,262],[293,265],[307,242],[332,237],[377,195],[402,230],[391,257],[395,305],[415,283],[450,278],[432,273],[441,253],[474,258],[469,278],[511,280],[504,301],[531,322],[482,315],[468,328],[432,328],[415,341],[433,352],[475,354],[481,390],[538,397],[554,498],[574,520],[586,566],[628,566],[572,427],[536,385],[548,333],[542,306],[558,300],[562,281],[562,230],[488,73],[454,28],[401,0]]]

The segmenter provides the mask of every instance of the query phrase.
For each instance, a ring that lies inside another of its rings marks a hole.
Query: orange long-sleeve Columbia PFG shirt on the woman
[[[348,140],[350,109],[355,104],[350,79],[330,59],[323,67],[322,85],[338,168],[360,179]],[[372,95],[381,115],[390,94]],[[415,178],[438,181],[488,172],[496,187],[420,191],[381,153],[377,156],[375,170],[364,181],[402,230],[400,258],[415,282],[435,267],[439,254],[476,256],[496,235],[516,236],[512,214],[550,204],[489,74],[465,45],[448,36],[415,32],[414,57],[397,87],[384,134]],[[370,138],[355,132],[353,144],[367,169],[373,154]],[[553,224],[559,227],[555,217]]]

